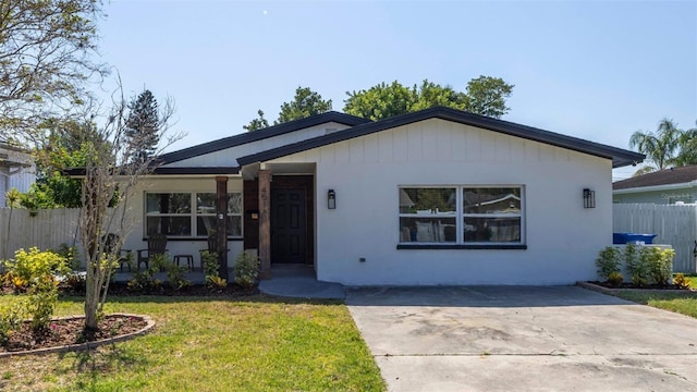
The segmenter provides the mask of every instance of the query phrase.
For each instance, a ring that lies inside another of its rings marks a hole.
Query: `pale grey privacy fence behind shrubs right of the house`
[[[614,204],[612,230],[615,233],[657,234],[655,244],[675,249],[673,271],[696,272],[697,205]]]

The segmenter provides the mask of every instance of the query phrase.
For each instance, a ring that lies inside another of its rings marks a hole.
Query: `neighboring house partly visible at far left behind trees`
[[[5,207],[4,194],[15,187],[29,191],[36,181],[34,159],[23,148],[0,139],[0,208]]]

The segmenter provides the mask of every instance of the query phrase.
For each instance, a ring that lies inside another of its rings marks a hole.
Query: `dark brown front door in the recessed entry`
[[[307,215],[304,188],[271,191],[271,262],[305,264]]]

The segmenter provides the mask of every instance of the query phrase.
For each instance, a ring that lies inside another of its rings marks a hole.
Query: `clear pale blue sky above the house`
[[[111,0],[101,60],[126,96],[176,106],[178,150],[274,120],[298,86],[342,111],[381,82],[515,85],[502,119],[628,148],[663,118],[697,126],[696,1]],[[637,168],[615,170],[613,179]]]

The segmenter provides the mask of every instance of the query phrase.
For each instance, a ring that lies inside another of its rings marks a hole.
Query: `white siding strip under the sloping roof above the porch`
[[[316,126],[309,126],[295,132],[290,132],[283,135],[268,137],[257,142],[243,144],[240,146],[227,148],[220,151],[206,154],[203,156],[184,159],[181,161],[168,163],[167,168],[176,167],[236,167],[237,157],[244,157],[253,155],[259,151],[269,150],[276,147],[286,146],[293,143],[302,142],[308,138],[322,136],[327,134],[328,130],[342,131],[347,128],[347,125],[327,122]],[[254,131],[253,131],[254,132]]]

